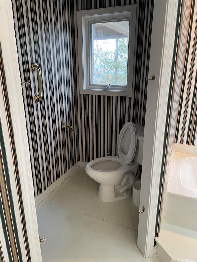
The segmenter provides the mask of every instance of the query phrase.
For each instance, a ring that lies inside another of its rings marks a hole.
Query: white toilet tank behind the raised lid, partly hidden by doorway
[[[144,143],[144,127],[140,124],[135,124],[137,133],[137,147],[135,151],[134,161],[142,165],[143,143]]]

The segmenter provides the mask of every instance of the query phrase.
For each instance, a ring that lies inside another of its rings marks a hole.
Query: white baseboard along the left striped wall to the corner
[[[37,206],[44,200],[48,195],[53,192],[62,182],[66,180],[79,166],[86,166],[85,162],[78,161],[74,166],[72,166],[65,174],[63,174],[58,180],[56,180],[52,185],[50,185],[44,192],[42,192],[38,197],[35,198],[35,205]]]

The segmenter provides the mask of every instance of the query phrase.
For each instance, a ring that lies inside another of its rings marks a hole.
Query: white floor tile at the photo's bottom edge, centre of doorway
[[[111,248],[112,244],[110,241],[104,240],[100,237],[91,236],[80,256],[95,262],[107,262]]]

